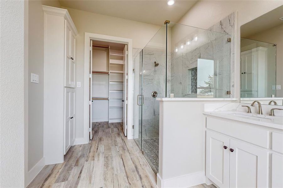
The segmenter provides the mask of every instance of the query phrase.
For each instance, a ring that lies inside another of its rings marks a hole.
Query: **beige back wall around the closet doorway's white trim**
[[[84,32],[130,38],[133,39],[133,48],[144,48],[160,26],[67,9],[79,32],[76,44],[76,81],[81,82],[82,87],[76,88],[75,137],[82,138],[84,136]]]

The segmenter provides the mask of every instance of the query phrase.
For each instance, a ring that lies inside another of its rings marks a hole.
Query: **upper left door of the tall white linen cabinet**
[[[72,67],[72,52],[71,52],[71,46],[72,46],[72,30],[67,22],[65,20],[65,86],[71,87],[71,67]]]

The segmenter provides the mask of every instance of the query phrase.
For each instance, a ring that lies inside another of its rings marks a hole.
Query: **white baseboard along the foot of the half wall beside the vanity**
[[[157,187],[164,188],[164,187],[192,187],[195,185],[199,185],[205,182],[205,174],[204,171],[197,172],[193,174],[182,175],[166,180],[162,180],[160,175],[157,173]]]

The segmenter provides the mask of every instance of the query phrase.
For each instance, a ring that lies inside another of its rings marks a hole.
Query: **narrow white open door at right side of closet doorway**
[[[128,83],[128,73],[127,73],[127,60],[128,60],[128,51],[127,45],[124,47],[123,51],[123,132],[127,136],[127,83]]]

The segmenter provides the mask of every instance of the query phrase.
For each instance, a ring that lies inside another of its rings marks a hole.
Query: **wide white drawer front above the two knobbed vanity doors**
[[[248,123],[207,117],[206,127],[246,142],[269,148],[269,131],[255,128]]]

